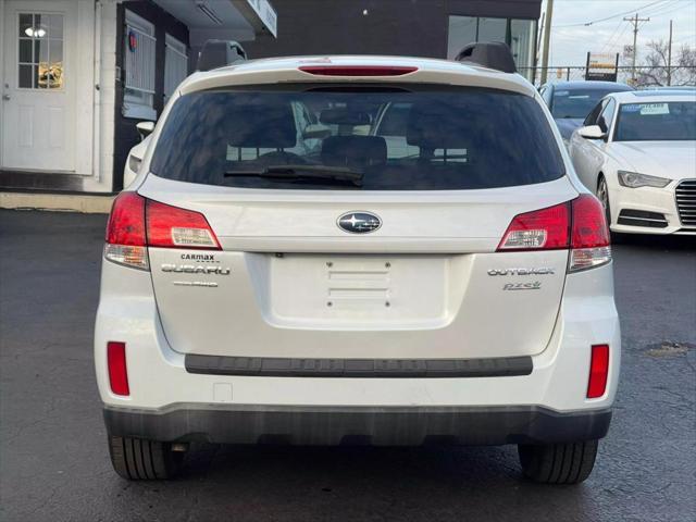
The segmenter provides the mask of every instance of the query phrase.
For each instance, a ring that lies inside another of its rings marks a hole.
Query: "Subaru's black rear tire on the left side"
[[[128,481],[172,478],[184,459],[169,443],[113,435],[109,436],[109,455],[115,472]]]

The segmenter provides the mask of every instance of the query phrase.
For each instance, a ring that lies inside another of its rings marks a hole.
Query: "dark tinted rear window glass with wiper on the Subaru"
[[[530,97],[306,85],[179,98],[150,171],[208,185],[332,190],[494,188],[564,174]]]

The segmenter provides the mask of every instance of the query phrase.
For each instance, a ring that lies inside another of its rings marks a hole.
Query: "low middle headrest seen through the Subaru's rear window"
[[[381,136],[330,136],[322,141],[322,163],[364,167],[387,161],[387,142]]]

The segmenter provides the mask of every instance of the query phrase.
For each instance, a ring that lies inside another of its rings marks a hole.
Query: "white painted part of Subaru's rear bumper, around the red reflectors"
[[[196,362],[191,360],[187,364],[186,356],[174,351],[164,336],[150,273],[107,262],[102,279],[95,332],[95,366],[101,399],[108,409],[115,411],[163,414],[178,409],[234,410],[237,405],[256,407],[259,411],[268,405],[318,408],[321,411],[325,408],[346,411],[346,408],[353,407],[372,408],[372,411],[396,411],[395,408],[426,409],[419,411],[439,411],[437,408],[499,411],[500,408],[513,408],[518,411],[518,408],[534,406],[572,413],[609,409],[617,393],[621,340],[611,293],[611,264],[567,277],[552,336],[543,351],[531,356],[531,364],[529,359],[525,360],[524,371],[511,372],[509,365],[501,368],[500,360],[496,361],[495,368],[480,364],[481,361],[476,361],[474,366],[471,360],[437,360],[438,369],[446,370],[446,375],[438,372],[439,376],[428,373],[427,360],[411,359],[396,361],[399,362],[396,375],[391,366],[377,364],[366,369],[359,364],[358,374],[352,372],[353,366],[346,372],[344,364],[341,375],[337,375],[336,364],[343,361],[334,359],[331,360],[331,376],[310,371],[310,362],[316,363],[316,360],[300,360],[301,364],[293,359],[271,361],[273,364],[268,368],[261,364],[258,372],[253,361],[238,365],[240,361],[236,359],[232,368],[228,368],[226,359],[215,359],[213,369],[207,363],[191,365]],[[126,343],[130,389],[127,397],[115,395],[110,389],[105,347],[113,340]],[[457,343],[457,339],[451,339],[451,343]],[[610,345],[609,377],[605,395],[588,399],[589,348],[596,344]],[[431,351],[433,358],[442,357],[437,347]],[[248,352],[253,353],[254,347],[249,346]],[[326,355],[330,353],[327,349]],[[467,356],[469,353],[462,350],[461,357]],[[350,361],[351,364],[361,362]],[[388,362],[395,363],[394,360]],[[423,363],[424,371],[421,368]],[[321,370],[323,366],[314,368]],[[251,370],[253,372],[250,373]],[[270,372],[261,375],[262,370]],[[209,433],[199,415],[195,414],[199,426],[196,431]],[[411,415],[413,418],[418,415]],[[186,435],[187,431],[176,436]],[[501,438],[506,439],[510,433],[517,432],[504,431]]]

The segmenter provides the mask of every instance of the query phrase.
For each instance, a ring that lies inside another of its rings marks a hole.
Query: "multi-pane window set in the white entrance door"
[[[20,13],[18,87],[60,89],[63,86],[63,15]]]

